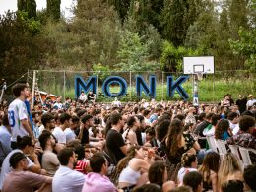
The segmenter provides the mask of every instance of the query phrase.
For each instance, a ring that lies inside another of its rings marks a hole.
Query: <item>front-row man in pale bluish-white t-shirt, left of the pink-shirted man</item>
[[[74,170],[77,163],[75,152],[70,148],[62,149],[58,154],[61,166],[52,181],[52,192],[81,192],[85,175]]]

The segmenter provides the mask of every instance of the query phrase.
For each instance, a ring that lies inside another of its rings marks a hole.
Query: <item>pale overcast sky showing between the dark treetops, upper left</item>
[[[69,11],[73,0],[62,0],[61,11],[65,13],[65,17],[69,18],[72,14]],[[46,0],[36,0],[37,10],[46,8]],[[0,0],[0,14],[4,14],[7,10],[17,10],[17,0]]]

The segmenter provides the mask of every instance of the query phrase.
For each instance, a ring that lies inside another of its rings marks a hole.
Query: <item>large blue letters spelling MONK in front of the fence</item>
[[[181,86],[188,78],[188,76],[180,76],[174,80],[173,76],[167,76],[167,95],[173,97],[174,92],[177,91],[183,99],[188,99],[188,94]],[[155,98],[157,86],[156,76],[149,76],[149,84],[145,82],[142,76],[136,76],[135,82],[137,96],[142,96],[142,92],[144,92],[146,96]],[[110,92],[109,88],[113,85],[119,85],[119,93]],[[84,90],[85,93],[91,90],[94,94],[97,94],[97,77],[91,76],[87,81],[84,81],[81,77],[77,76],[75,79],[76,97],[80,95],[81,90]],[[110,76],[103,82],[102,93],[108,97],[125,96],[127,93],[127,82],[120,76]]]

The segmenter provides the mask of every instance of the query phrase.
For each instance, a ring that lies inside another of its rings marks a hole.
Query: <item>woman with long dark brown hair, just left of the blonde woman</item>
[[[199,172],[203,175],[203,187],[205,190],[218,192],[218,170],[220,166],[220,155],[216,152],[206,154]]]

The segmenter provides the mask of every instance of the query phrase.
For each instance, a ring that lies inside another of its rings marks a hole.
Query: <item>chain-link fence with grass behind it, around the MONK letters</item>
[[[167,73],[161,71],[155,72],[94,72],[94,71],[53,71],[39,70],[36,71],[36,83],[40,91],[53,95],[61,95],[63,98],[75,98],[75,78],[80,76],[86,82],[91,76],[97,77],[97,101],[109,102],[113,98],[103,95],[102,84],[104,80],[110,76],[119,76],[125,79],[127,83],[127,91],[125,96],[121,96],[122,101],[137,101],[141,98],[150,99],[149,96],[137,96],[135,82],[136,76],[140,75],[144,81],[149,84],[150,75],[154,75],[157,80],[156,100],[177,100],[181,96],[175,92],[174,97],[167,96],[167,76],[173,76],[176,80],[182,73]],[[32,81],[33,71],[28,73],[29,80]],[[202,81],[199,82],[199,100],[204,102],[220,101],[224,95],[231,94],[233,98],[237,98],[239,94],[255,96],[255,73],[248,71],[217,71],[215,74],[204,75]],[[182,87],[189,95],[189,100],[192,100],[192,76],[182,84]],[[110,87],[110,92],[119,93],[120,87],[113,85]]]

